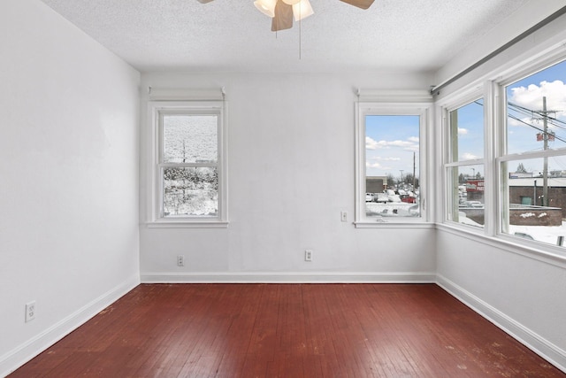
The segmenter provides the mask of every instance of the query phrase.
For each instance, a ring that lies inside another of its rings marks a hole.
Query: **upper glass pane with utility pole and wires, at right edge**
[[[566,62],[506,88],[507,153],[566,148]]]

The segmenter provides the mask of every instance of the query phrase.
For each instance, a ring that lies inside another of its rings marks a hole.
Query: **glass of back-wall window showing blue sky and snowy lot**
[[[368,217],[418,217],[417,115],[365,117],[365,208]]]

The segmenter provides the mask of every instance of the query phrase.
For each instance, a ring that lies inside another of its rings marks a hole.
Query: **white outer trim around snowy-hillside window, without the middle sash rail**
[[[217,113],[218,125],[218,216],[179,217],[176,219],[160,216],[160,196],[162,195],[159,168],[161,153],[161,130],[159,117],[162,112],[205,112]],[[227,180],[227,133],[226,133],[227,103],[226,100],[215,101],[149,101],[148,127],[149,136],[149,169],[148,169],[148,228],[227,228],[228,227],[228,180]]]

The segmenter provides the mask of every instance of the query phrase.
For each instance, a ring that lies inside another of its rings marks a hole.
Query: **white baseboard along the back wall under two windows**
[[[142,283],[435,283],[436,274],[427,272],[207,272],[145,273]]]

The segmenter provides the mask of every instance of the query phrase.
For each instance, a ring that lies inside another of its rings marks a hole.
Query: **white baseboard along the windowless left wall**
[[[71,313],[65,319],[58,321],[42,333],[27,340],[26,343],[18,345],[11,351],[0,356],[0,376],[6,376],[24,365],[30,359],[48,349],[54,343],[69,335],[73,330],[86,323],[98,312],[116,302],[119,297],[134,289],[140,283],[139,275],[135,274],[125,282],[120,283],[114,289],[104,293],[102,296],[84,305],[79,310]]]

